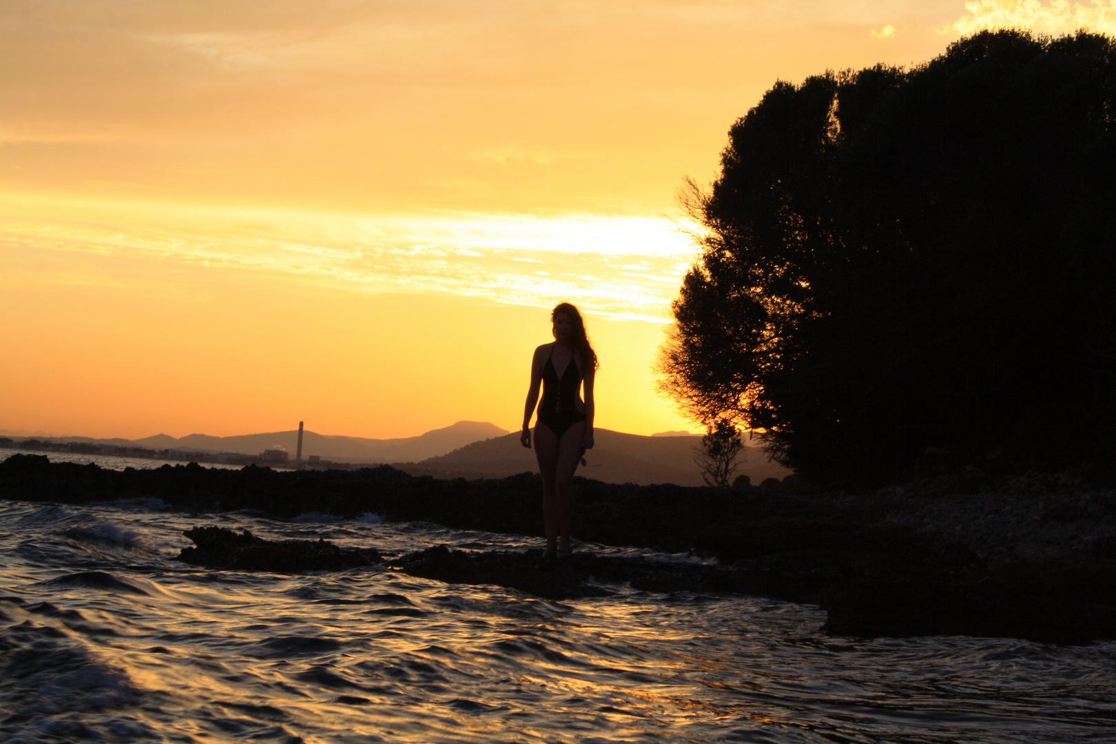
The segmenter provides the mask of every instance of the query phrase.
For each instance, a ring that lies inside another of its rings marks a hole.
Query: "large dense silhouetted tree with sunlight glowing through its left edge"
[[[682,196],[701,258],[661,389],[818,483],[931,445],[1110,461],[1114,197],[1110,38],[987,31],[910,70],[779,81]]]

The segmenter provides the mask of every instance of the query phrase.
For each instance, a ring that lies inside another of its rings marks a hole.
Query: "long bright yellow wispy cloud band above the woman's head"
[[[118,211],[129,219],[118,220]],[[666,218],[0,202],[0,251],[148,257],[360,292],[434,291],[532,307],[570,300],[588,312],[664,322],[694,249]]]

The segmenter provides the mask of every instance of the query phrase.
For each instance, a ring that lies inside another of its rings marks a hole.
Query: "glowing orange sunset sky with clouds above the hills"
[[[518,428],[547,308],[599,426],[689,428],[650,371],[674,194],[779,78],[1112,0],[7,0],[0,429]]]

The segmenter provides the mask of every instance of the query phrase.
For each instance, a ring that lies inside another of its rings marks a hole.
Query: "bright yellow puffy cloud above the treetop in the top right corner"
[[[1116,35],[1116,0],[1093,0],[1088,4],[1068,0],[972,0],[952,29],[975,33],[983,29],[1027,28],[1061,36],[1080,28]]]

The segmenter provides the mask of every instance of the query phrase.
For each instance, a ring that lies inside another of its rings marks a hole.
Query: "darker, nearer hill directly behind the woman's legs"
[[[701,443],[699,435],[641,436],[597,428],[595,439],[596,446],[585,454],[588,465],[579,466],[578,475],[606,483],[703,485],[693,461],[693,447]],[[744,452],[747,456],[737,473],[747,474],[754,484],[790,473],[756,447],[745,447]],[[514,433],[468,444],[407,470],[443,477],[504,477],[525,471],[537,473],[538,464],[535,452],[525,448]]]

